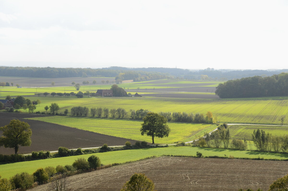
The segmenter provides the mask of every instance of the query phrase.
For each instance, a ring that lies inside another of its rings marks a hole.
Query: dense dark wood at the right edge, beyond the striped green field
[[[229,80],[216,87],[220,98],[252,98],[288,95],[288,73]]]

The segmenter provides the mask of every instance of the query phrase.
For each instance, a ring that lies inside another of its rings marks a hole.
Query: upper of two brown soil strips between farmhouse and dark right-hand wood
[[[129,89],[130,90],[135,90],[137,91],[138,89]],[[175,88],[147,88],[147,89],[141,89],[140,90],[145,90],[145,91],[187,91],[187,92],[208,92],[208,93],[214,93],[216,90],[216,87],[175,87]],[[208,90],[208,91],[207,91]]]

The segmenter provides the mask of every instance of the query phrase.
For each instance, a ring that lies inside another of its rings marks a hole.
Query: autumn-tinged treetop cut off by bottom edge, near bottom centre
[[[154,191],[154,189],[153,181],[147,178],[145,174],[135,173],[120,191]]]

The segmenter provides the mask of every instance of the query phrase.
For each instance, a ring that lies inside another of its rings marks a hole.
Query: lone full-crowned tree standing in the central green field
[[[152,137],[152,144],[154,144],[154,137],[167,137],[170,133],[170,128],[167,125],[167,119],[158,113],[149,112],[143,118],[144,123],[140,129],[141,135],[147,134]]]

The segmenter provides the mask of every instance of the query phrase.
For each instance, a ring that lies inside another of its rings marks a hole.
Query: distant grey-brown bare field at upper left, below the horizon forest
[[[83,81],[89,81],[90,85],[93,84],[93,80],[96,80],[97,84],[102,84],[101,80],[115,80],[115,78],[81,78],[81,77],[70,77],[70,78],[31,78],[31,77],[7,77],[7,76],[0,76],[0,82],[11,82],[14,83],[14,86],[16,84],[19,84],[20,86],[25,87],[52,87],[51,83],[55,82],[54,86],[73,86],[71,83],[74,81],[76,84],[79,83],[80,85],[83,85]],[[106,83],[105,83],[106,84]],[[11,86],[11,85],[10,85]]]

